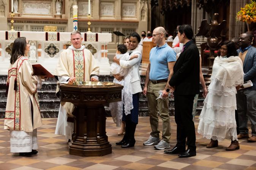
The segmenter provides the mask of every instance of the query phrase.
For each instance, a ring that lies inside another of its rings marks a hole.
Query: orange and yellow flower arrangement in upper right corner
[[[245,5],[245,8],[241,8],[241,11],[237,12],[237,21],[256,23],[256,0],[251,0],[251,3]]]

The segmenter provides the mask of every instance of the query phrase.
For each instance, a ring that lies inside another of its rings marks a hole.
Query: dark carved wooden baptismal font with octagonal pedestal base
[[[112,153],[106,135],[106,112],[104,105],[121,101],[122,85],[60,87],[60,100],[71,102],[74,111],[74,134],[70,145],[70,155],[104,156]]]

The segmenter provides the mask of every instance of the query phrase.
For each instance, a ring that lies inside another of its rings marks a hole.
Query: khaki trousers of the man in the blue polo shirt
[[[149,117],[152,132],[151,136],[159,138],[160,131],[158,130],[158,110],[160,117],[163,121],[163,134],[162,138],[164,141],[169,142],[171,138],[171,125],[169,117],[169,100],[157,99],[159,97],[159,90],[164,90],[166,83],[153,84],[149,82],[147,88],[147,100],[149,105]]]

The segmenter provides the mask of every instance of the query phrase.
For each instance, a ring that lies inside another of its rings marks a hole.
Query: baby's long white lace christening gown
[[[130,59],[128,53],[116,54],[116,57],[120,60]],[[133,109],[133,94],[131,93],[131,69],[122,68],[117,63],[112,63],[110,66],[110,71],[112,74],[120,74],[121,76],[124,76],[124,78],[121,81],[118,81],[117,79],[113,80],[114,83],[123,85],[122,101],[109,104],[113,121],[116,123],[117,127],[120,127],[123,116],[123,105],[125,115],[130,114],[130,110]]]

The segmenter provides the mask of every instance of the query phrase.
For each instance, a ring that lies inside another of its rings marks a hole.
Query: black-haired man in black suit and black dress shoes
[[[165,150],[164,152],[179,154],[180,158],[196,156],[196,133],[192,110],[194,96],[199,93],[200,59],[198,48],[192,40],[193,35],[191,25],[179,27],[177,36],[184,47],[174,65],[174,74],[169,81],[169,85],[174,90],[177,144],[171,150]]]

